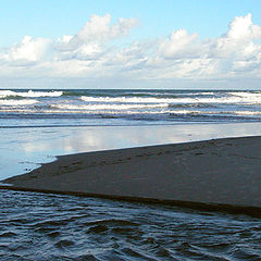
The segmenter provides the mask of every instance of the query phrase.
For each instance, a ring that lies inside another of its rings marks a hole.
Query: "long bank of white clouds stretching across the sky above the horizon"
[[[75,79],[92,80],[91,87],[99,82],[125,80],[133,83],[129,87],[139,88],[142,83],[149,88],[152,82],[260,79],[261,26],[252,23],[251,14],[235,17],[227,32],[216,38],[200,39],[199,34],[183,28],[166,38],[123,45],[137,25],[135,18],[112,24],[109,14],[92,15],[73,36],[55,40],[24,36],[21,42],[0,50],[0,85],[14,78],[24,83],[49,78],[57,79],[60,86],[55,87],[61,88]]]

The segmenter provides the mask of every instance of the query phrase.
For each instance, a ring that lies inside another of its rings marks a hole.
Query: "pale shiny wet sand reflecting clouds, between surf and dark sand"
[[[61,154],[259,136],[261,123],[5,128],[0,134],[0,178],[3,179]]]

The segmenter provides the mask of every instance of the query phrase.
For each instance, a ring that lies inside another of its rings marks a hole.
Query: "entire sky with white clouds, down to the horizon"
[[[260,0],[0,0],[0,88],[260,89]]]

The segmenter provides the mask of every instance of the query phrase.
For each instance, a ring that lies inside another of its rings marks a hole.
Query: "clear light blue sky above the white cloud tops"
[[[0,45],[21,41],[24,35],[55,39],[74,35],[90,15],[110,13],[119,17],[135,17],[140,22],[133,38],[161,37],[185,28],[202,38],[217,37],[235,17],[252,14],[261,24],[260,0],[1,0]]]

